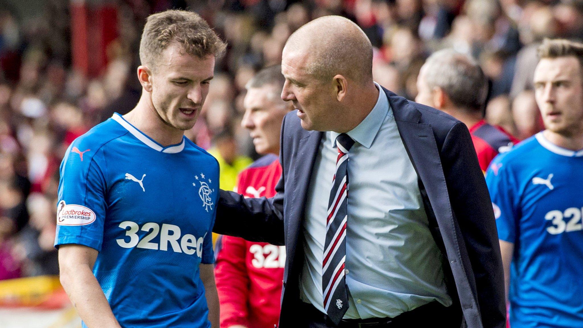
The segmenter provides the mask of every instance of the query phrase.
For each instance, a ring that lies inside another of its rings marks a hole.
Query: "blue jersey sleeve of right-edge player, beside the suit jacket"
[[[518,213],[515,206],[517,183],[507,162],[501,160],[504,155],[497,156],[486,172],[486,184],[490,191],[494,218],[498,229],[498,239],[515,243],[517,240]]]

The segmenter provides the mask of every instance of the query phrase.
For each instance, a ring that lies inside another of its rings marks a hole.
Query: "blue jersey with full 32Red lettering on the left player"
[[[93,273],[121,326],[210,327],[199,264],[214,261],[216,159],[187,138],[163,147],[116,113],[60,170],[55,246],[99,251]]]

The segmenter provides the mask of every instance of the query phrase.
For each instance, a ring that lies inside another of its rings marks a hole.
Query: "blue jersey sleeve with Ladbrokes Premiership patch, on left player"
[[[103,153],[82,144],[73,142],[61,163],[55,247],[78,244],[100,251],[106,215],[106,179],[98,162],[102,166],[105,163]]]

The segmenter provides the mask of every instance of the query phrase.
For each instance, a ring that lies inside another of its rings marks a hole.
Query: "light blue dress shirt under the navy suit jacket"
[[[350,148],[346,233],[347,319],[395,317],[432,301],[445,306],[442,255],[431,236],[417,173],[407,155],[387,95],[347,132]],[[336,132],[325,132],[308,189],[303,224],[305,263],[300,295],[325,313],[322,257],[328,198],[335,173]]]

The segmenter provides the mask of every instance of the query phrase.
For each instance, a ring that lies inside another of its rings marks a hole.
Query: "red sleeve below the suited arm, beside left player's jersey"
[[[217,242],[215,279],[222,328],[248,326],[249,275],[245,266],[247,243],[243,238],[221,236]]]

